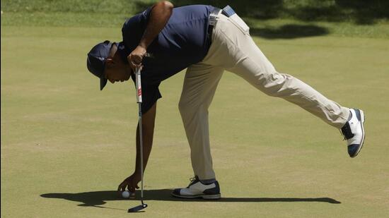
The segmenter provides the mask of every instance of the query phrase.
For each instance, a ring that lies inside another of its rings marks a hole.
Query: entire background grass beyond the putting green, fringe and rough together
[[[118,27],[153,0],[4,0],[1,25]],[[336,35],[389,37],[389,1],[384,0],[172,0],[175,6],[231,5],[260,37]]]

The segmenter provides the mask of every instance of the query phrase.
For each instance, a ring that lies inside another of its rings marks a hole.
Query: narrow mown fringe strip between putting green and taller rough
[[[2,26],[48,26],[48,27],[106,27],[120,30],[124,20],[129,14],[117,14],[112,16],[108,13],[4,13],[1,15]],[[373,25],[356,25],[349,22],[327,22],[312,21],[306,22],[296,19],[269,19],[258,20],[245,18],[254,35],[269,38],[279,38],[292,35],[294,37],[305,37],[315,35],[330,35],[336,37],[369,37],[389,38],[389,23],[382,20]],[[288,25],[297,25],[301,28],[284,29]],[[310,28],[313,27],[313,28]],[[306,35],[306,33],[308,35]],[[120,40],[120,39],[119,39]]]

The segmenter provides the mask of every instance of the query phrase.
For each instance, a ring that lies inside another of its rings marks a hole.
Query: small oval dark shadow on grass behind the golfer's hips
[[[327,35],[330,31],[317,25],[281,25],[278,28],[250,28],[250,35],[266,39],[296,39]]]

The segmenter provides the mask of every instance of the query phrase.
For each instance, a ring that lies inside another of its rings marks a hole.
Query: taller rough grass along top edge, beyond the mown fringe
[[[111,15],[143,11],[157,0],[4,0],[1,9],[18,13],[109,13]],[[170,0],[175,6],[209,4],[222,8],[231,5],[241,16],[251,18],[296,18],[298,20],[348,21],[359,24],[388,20],[389,3],[385,0]]]

